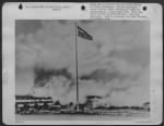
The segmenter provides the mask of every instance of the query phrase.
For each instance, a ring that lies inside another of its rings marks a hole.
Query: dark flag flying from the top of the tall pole
[[[93,40],[93,37],[79,26],[78,26],[78,36],[83,39]]]

